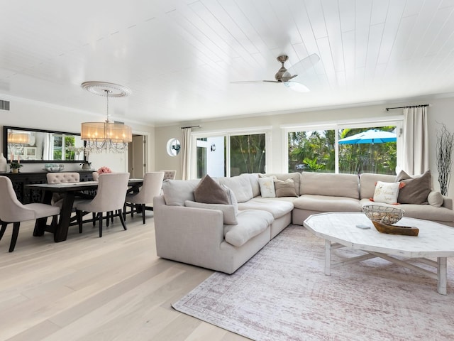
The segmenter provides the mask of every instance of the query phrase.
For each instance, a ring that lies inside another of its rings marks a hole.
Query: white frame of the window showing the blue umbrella
[[[397,131],[397,155],[396,163],[398,169],[402,168],[402,152],[403,152],[403,126],[404,126],[404,116],[395,116],[395,117],[381,117],[381,118],[371,118],[371,119],[362,119],[361,121],[337,121],[337,122],[321,122],[316,124],[303,124],[303,125],[292,125],[292,126],[281,126],[282,130],[282,171],[285,173],[289,169],[289,133],[297,131],[314,131],[314,130],[335,130],[335,171],[334,173],[339,173],[339,135],[337,134],[339,129],[358,129],[358,128],[371,128],[374,126],[396,126]]]

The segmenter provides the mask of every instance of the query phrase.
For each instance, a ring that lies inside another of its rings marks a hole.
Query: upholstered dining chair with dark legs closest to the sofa
[[[125,208],[123,210],[126,217],[126,206],[131,206],[131,217],[134,212],[142,211],[142,221],[145,224],[145,210],[153,211],[153,197],[160,195],[164,172],[149,172],[143,175],[143,185],[138,193],[126,195]],[[139,208],[139,210],[138,210]]]

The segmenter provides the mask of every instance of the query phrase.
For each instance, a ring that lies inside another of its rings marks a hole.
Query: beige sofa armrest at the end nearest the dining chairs
[[[153,200],[157,256],[189,264],[201,254],[218,251],[224,240],[223,213],[165,205],[162,195]]]

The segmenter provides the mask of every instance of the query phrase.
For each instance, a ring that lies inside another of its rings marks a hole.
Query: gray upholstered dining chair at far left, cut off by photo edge
[[[52,222],[56,222],[57,215],[60,214],[60,207],[46,204],[26,204],[23,205],[16,196],[11,180],[6,176],[0,176],[0,239],[3,237],[8,224],[13,224],[13,234],[9,251],[14,251],[19,234],[21,222],[28,220],[38,220],[45,217],[55,217]]]

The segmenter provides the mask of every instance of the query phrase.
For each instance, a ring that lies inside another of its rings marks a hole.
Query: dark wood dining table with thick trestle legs
[[[143,179],[129,179],[128,193],[137,192],[143,184]],[[52,193],[63,195],[62,209],[60,210],[60,220],[55,227],[47,225],[47,217],[40,218],[35,224],[33,236],[42,236],[44,232],[54,234],[54,242],[63,242],[67,239],[68,229],[71,223],[72,205],[75,197],[90,197],[87,192],[94,192],[98,188],[98,181],[82,181],[79,183],[36,183],[26,185],[30,190],[43,190],[43,202],[50,204]]]

